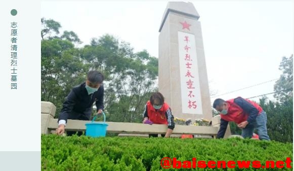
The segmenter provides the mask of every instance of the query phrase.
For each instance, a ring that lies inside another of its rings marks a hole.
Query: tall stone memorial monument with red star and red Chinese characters
[[[192,3],[167,4],[159,28],[159,92],[175,117],[212,120],[198,19]]]

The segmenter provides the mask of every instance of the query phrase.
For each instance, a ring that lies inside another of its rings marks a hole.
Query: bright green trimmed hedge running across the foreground
[[[41,135],[41,170],[165,170],[163,157],[178,160],[292,160],[292,143],[241,139],[89,138]],[[292,163],[291,163],[292,166]],[[190,170],[171,168],[167,170]],[[195,170],[195,169],[194,169]],[[197,170],[257,170],[257,168],[197,168]],[[292,170],[269,168],[259,170]]]

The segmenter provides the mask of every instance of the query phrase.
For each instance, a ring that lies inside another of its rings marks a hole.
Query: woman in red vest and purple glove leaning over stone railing
[[[169,138],[172,134],[175,128],[174,116],[169,105],[164,102],[164,97],[160,92],[152,94],[150,100],[147,101],[143,123],[165,124],[167,125],[167,131],[165,134],[161,134],[161,136]],[[157,137],[158,134],[149,134],[149,138],[151,136]]]

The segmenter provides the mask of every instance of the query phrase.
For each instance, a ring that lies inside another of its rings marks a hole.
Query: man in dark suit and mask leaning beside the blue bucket
[[[58,118],[57,134],[65,132],[67,119],[90,120],[92,106],[95,102],[97,115],[102,113],[104,88],[102,82],[104,76],[98,71],[90,71],[86,82],[72,88],[63,103],[63,108]],[[67,135],[75,134],[75,131],[67,131]],[[78,132],[81,135],[82,132]]]

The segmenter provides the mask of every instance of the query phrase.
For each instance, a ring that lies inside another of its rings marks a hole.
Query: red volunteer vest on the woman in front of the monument
[[[168,124],[166,117],[165,117],[165,112],[167,109],[169,109],[169,105],[167,105],[165,102],[162,105],[162,108],[155,111],[154,107],[151,105],[151,102],[147,102],[147,114],[149,117],[149,120],[155,124]]]

